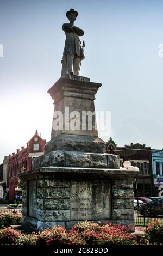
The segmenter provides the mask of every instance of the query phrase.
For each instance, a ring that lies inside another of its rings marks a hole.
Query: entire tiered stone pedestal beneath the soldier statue
[[[95,115],[92,129],[83,115],[95,111],[95,94],[101,84],[72,78],[60,78],[48,90],[55,103],[53,124],[57,113],[62,114],[63,123],[59,130],[52,126],[51,141],[45,145],[45,154],[33,160],[33,170],[19,174],[23,226],[43,230],[63,225],[68,230],[78,221],[104,220],[128,224],[134,231],[133,177],[137,172],[120,170],[118,156],[105,153]],[[77,129],[72,130],[77,115]]]

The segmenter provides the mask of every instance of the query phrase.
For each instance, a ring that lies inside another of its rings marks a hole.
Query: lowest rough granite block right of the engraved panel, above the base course
[[[112,218],[114,220],[134,220],[134,211],[129,209],[112,209]]]

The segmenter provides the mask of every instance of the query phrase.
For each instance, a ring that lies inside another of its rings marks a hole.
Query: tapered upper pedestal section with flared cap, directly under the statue
[[[51,141],[45,146],[45,153],[53,150],[105,153],[105,142],[98,138],[96,116],[92,115],[95,113],[95,94],[101,85],[60,78],[48,90],[54,100],[54,114],[62,113],[63,125],[59,130],[54,130],[58,115],[53,118]],[[73,122],[76,130],[72,130]]]

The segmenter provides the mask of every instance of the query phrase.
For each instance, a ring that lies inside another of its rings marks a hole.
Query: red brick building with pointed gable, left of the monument
[[[27,142],[27,147],[21,147],[16,153],[9,155],[9,200],[15,199],[18,173],[32,169],[32,159],[43,155],[46,140],[42,139],[36,130],[34,136]]]

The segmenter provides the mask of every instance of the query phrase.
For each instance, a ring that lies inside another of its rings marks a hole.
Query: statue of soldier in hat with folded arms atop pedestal
[[[78,12],[74,9],[70,9],[70,11],[67,11],[66,16],[70,23],[64,23],[62,26],[62,29],[66,34],[66,41],[63,58],[61,60],[61,77],[65,77],[67,74],[78,75],[80,62],[84,59],[83,49],[79,39],[79,36],[84,35],[84,31],[74,26],[74,21],[78,16]]]

